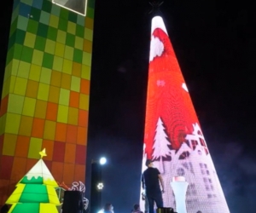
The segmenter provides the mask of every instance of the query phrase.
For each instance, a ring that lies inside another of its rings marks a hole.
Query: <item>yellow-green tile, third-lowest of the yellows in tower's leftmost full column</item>
[[[9,94],[9,103],[7,112],[21,114],[24,103],[24,96]]]

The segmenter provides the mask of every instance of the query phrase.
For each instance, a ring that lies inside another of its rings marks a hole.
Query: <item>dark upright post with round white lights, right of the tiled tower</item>
[[[90,213],[97,213],[101,209],[102,203],[102,165],[106,164],[106,158],[91,161],[90,180]]]

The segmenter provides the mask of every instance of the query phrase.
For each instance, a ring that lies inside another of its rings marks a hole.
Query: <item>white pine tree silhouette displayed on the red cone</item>
[[[161,118],[158,118],[156,124],[156,130],[154,135],[154,152],[152,154],[152,158],[160,158],[160,172],[164,173],[164,165],[163,158],[170,155],[170,148],[168,147],[171,143],[168,141],[168,136],[166,135],[166,128],[164,127],[164,123]]]

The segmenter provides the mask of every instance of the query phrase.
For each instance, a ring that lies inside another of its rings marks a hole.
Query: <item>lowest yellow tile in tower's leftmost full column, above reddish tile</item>
[[[13,134],[4,134],[3,139],[3,154],[4,155],[15,155],[15,147],[16,147],[17,135]]]

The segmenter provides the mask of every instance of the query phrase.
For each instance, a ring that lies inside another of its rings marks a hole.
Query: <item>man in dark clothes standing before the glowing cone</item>
[[[148,169],[144,170],[142,177],[143,189],[146,191],[149,213],[154,213],[154,202],[157,208],[163,207],[162,193],[165,192],[165,186],[160,171],[154,168],[151,159],[147,159],[146,166]],[[162,190],[160,189],[160,184]]]

